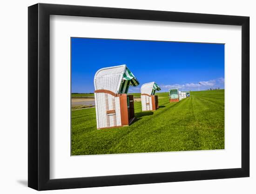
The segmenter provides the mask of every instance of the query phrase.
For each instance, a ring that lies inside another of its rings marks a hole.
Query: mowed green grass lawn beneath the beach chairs
[[[135,102],[128,127],[97,130],[95,108],[73,110],[72,155],[224,149],[224,90],[190,94],[169,103],[168,93],[157,93],[154,112]]]

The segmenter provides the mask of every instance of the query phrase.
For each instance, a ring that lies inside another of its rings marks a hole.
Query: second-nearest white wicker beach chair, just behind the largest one
[[[158,96],[155,91],[161,88],[155,82],[143,84],[141,86],[141,105],[142,111],[156,110],[158,108]]]

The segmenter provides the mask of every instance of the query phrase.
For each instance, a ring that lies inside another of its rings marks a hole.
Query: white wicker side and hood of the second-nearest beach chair
[[[153,89],[154,83],[155,82],[153,81],[153,82],[150,82],[150,83],[143,84],[141,86],[141,94],[148,94],[149,95],[149,96],[141,95],[142,111],[153,110],[151,94],[152,94],[152,89]]]

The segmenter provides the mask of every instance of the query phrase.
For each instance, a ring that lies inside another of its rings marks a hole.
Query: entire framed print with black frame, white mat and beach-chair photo
[[[249,17],[28,7],[28,187],[249,176]]]

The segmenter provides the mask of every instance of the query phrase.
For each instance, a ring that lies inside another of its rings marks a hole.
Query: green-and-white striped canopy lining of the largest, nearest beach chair
[[[127,94],[129,86],[138,86],[139,84],[140,83],[135,78],[134,74],[126,67],[119,89],[119,94]]]

